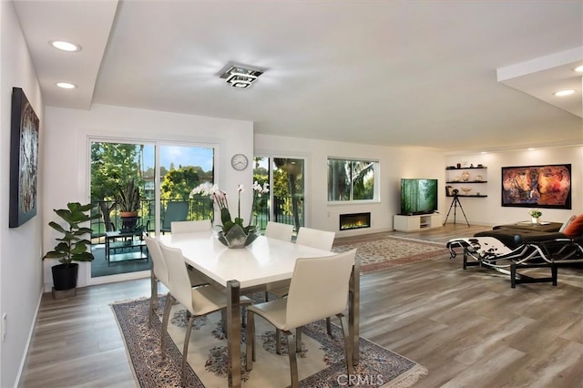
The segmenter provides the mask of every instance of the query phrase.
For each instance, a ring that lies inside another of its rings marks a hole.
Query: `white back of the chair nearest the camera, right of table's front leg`
[[[355,257],[356,250],[349,250],[333,256],[296,260],[287,299],[286,327],[282,330],[343,312]]]

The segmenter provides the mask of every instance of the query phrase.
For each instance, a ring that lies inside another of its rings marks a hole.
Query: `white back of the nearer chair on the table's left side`
[[[169,291],[179,303],[192,309],[192,286],[190,285],[189,273],[182,256],[182,250],[167,247],[160,243],[162,258],[166,262],[169,273]]]

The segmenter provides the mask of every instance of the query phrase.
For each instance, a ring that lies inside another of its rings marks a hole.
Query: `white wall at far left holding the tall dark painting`
[[[34,327],[42,292],[41,235],[43,203],[36,217],[8,228],[10,116],[12,88],[22,87],[40,118],[40,155],[44,134],[43,101],[36,71],[12,2],[0,2],[0,313],[6,314],[6,338],[0,342],[0,386],[15,386]],[[43,166],[39,166],[38,199],[43,198]],[[1,315],[0,315],[1,316]]]

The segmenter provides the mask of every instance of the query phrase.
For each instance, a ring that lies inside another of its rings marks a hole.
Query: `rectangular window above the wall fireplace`
[[[328,201],[377,199],[378,161],[328,158]]]

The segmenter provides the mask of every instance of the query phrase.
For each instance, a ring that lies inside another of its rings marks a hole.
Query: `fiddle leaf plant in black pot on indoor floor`
[[[90,210],[94,208],[95,205],[91,203],[81,205],[79,202],[69,202],[66,204],[66,209],[55,209],[56,214],[66,222],[66,227],[55,221],[48,223],[48,226],[63,234],[62,237],[56,239],[58,243],[55,248],[46,252],[43,257],[43,260],[58,259],[60,262],[51,268],[54,291],[77,288],[79,264],[73,261],[94,259],[91,253],[91,241],[85,238],[87,234],[91,234],[91,229],[81,226],[89,220],[101,218],[100,213],[90,214]]]

